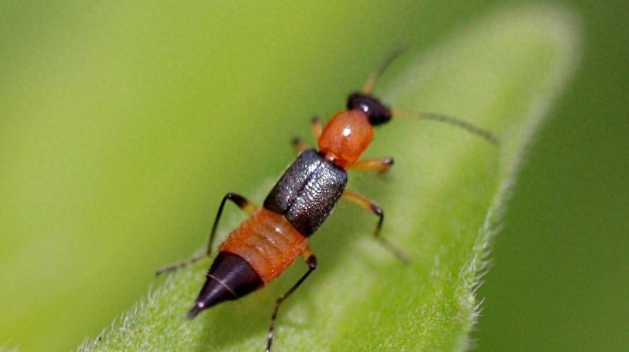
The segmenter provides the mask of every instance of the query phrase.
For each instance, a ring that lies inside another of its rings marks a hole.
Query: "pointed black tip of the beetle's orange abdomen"
[[[247,260],[234,253],[220,252],[187,317],[193,319],[202,310],[249,294],[262,284],[260,275],[251,268]]]

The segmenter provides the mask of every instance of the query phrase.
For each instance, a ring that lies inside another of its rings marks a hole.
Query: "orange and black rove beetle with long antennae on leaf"
[[[318,118],[313,118],[312,132],[318,141],[318,151],[309,149],[300,139],[294,139],[293,145],[299,156],[271,189],[263,206],[256,206],[239,194],[226,194],[220,202],[206,253],[158,270],[159,275],[211,256],[218,220],[226,201],[232,201],[249,214],[249,218],[218,247],[218,256],[187,318],[193,319],[202,310],[263,288],[301,256],[306,260],[308,271],[275,300],[266,341],[266,351],[270,351],[282,301],[317,268],[317,258],[308,246],[308,239],[328,218],[339,199],[356,203],[377,215],[379,220],[374,237],[402,262],[409,263],[410,259],[404,251],[380,236],[385,218],[382,208],[361,194],[345,189],[347,170],[384,172],[393,165],[392,158],[359,160],[373,139],[374,127],[389,122],[396,115],[447,122],[494,144],[498,139],[492,132],[463,120],[432,113],[404,113],[392,110],[375,99],[370,94],[375,82],[401,52],[394,51],[370,75],[361,92],[350,94],[347,110],[333,115],[325,127]]]

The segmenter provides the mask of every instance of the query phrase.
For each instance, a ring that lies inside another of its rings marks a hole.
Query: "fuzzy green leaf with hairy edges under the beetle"
[[[384,177],[352,173],[348,188],[385,209],[382,235],[412,263],[370,237],[373,215],[341,203],[311,238],[319,268],[282,306],[275,351],[468,346],[480,305],[475,288],[526,145],[575,68],[574,23],[558,8],[505,8],[385,73],[375,90],[383,101],[458,116],[496,132],[501,144],[428,120],[393,120],[378,130],[368,156],[393,156],[394,168]],[[272,182],[247,196],[263,199]],[[243,218],[228,214],[222,236]],[[158,279],[147,298],[80,349],[261,350],[275,297],[306,265],[189,321],[209,264]]]

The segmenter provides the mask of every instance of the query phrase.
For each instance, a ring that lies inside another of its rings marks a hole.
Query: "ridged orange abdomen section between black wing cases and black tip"
[[[306,249],[307,239],[278,213],[259,208],[220,245],[219,251],[247,260],[266,284]]]

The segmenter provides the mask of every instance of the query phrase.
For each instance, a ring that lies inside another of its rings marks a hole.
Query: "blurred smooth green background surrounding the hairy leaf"
[[[552,4],[582,57],[494,239],[480,350],[629,346],[629,6]],[[520,5],[2,1],[0,348],[96,337],[392,47]]]

